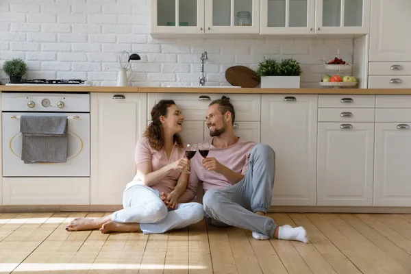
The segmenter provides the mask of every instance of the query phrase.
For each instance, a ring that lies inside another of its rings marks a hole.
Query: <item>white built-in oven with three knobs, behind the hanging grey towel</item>
[[[90,177],[90,95],[87,93],[5,92],[2,94],[3,177]],[[64,163],[21,160],[22,115],[67,116]]]

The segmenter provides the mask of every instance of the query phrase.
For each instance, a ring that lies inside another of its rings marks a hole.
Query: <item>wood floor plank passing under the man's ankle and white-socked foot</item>
[[[283,222],[284,218],[286,218],[285,215],[286,214],[282,213],[267,214],[267,216],[273,218],[278,225],[286,224]],[[301,258],[297,249],[292,245],[291,241],[272,238],[270,242],[279,258],[282,260],[282,263],[286,266],[288,273],[312,273],[306,262]]]

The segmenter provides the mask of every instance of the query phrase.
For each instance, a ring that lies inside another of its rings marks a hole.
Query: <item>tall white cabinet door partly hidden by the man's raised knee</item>
[[[317,95],[262,95],[261,142],[275,151],[275,206],[316,204],[317,101]]]

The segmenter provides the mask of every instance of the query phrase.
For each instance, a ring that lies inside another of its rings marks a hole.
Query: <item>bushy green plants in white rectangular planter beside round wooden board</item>
[[[284,59],[281,63],[265,59],[258,63],[256,74],[261,77],[262,88],[299,88],[303,71],[297,60]]]

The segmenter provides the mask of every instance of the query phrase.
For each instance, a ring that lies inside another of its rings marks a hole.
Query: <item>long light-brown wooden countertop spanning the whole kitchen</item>
[[[411,95],[411,88],[197,88],[144,86],[0,86],[1,91],[15,92],[163,92],[163,93],[243,93],[243,94],[357,94]]]

